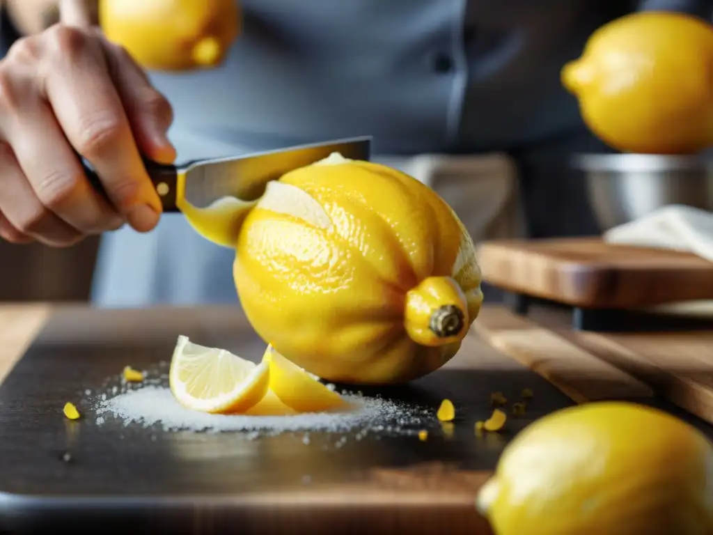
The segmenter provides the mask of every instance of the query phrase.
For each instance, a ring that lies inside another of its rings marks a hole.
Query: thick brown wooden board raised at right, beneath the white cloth
[[[481,244],[483,280],[512,292],[588,308],[636,308],[713,299],[713,263],[599,239]]]

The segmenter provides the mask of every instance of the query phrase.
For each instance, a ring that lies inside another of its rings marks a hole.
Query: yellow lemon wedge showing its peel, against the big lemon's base
[[[262,362],[270,364],[270,390],[287,407],[297,412],[349,408],[347,400],[325,387],[316,376],[289,362],[272,345],[267,346]]]

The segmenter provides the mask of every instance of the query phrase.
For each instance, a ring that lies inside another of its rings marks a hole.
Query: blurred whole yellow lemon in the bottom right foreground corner
[[[496,535],[713,533],[713,447],[657,409],[600,402],[531,424],[478,509]]]

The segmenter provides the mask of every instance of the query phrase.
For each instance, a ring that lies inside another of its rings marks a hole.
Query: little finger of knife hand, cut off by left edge
[[[46,208],[25,178],[12,148],[0,142],[0,225],[3,238],[18,242],[32,237],[46,245],[66,247],[82,235]]]

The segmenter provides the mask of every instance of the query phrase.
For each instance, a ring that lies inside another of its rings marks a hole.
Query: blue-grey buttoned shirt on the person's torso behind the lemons
[[[181,127],[259,148],[371,134],[381,153],[527,146],[580,125],[560,69],[637,9],[709,0],[242,0],[223,66],[154,73]]]

